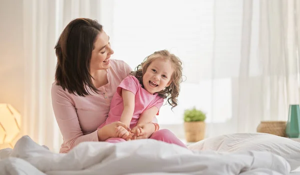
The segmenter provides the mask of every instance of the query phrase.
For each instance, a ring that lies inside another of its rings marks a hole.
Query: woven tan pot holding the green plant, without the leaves
[[[204,122],[184,122],[184,131],[186,142],[198,142],[204,139]]]

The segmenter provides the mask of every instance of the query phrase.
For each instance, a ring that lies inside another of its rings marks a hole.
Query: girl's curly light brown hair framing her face
[[[180,59],[175,56],[174,54],[171,54],[167,50],[159,50],[151,55],[147,56],[141,64],[139,64],[135,71],[131,72],[130,74],[135,76],[141,86],[143,87],[142,83],[142,77],[144,72],[146,72],[148,66],[151,64],[151,62],[157,58],[163,58],[166,60],[169,60],[172,63],[172,68],[174,70],[172,76],[171,76],[171,84],[168,87],[165,87],[162,91],[157,92],[158,95],[164,99],[167,98],[167,102],[172,106],[171,109],[173,109],[175,106],[177,106],[177,97],[180,92],[179,84],[182,82],[182,62]]]

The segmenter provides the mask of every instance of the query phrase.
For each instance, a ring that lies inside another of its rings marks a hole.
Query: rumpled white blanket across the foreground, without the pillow
[[[192,152],[151,139],[85,142],[67,154],[56,154],[24,136],[11,152],[0,150],[0,155],[1,175],[288,175],[290,171],[289,164],[272,153]]]

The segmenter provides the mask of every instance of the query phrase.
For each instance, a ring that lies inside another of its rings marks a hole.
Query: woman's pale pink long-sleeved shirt
[[[51,98],[54,115],[63,137],[59,153],[67,153],[81,142],[98,142],[97,127],[107,118],[110,101],[120,82],[132,69],[121,60],[110,59],[108,83],[99,92],[85,97],[76,96],[52,84]]]

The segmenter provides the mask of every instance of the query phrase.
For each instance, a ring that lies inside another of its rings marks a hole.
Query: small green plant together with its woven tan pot
[[[195,107],[184,111],[184,131],[187,142],[198,142],[204,139],[206,115]]]

